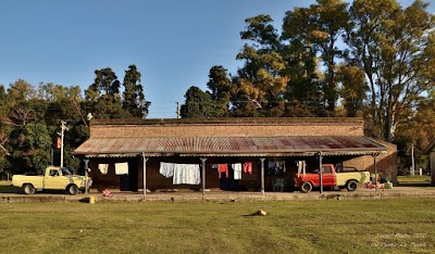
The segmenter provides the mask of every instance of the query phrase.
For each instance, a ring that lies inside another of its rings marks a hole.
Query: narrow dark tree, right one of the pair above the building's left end
[[[140,73],[136,65],[132,64],[125,71],[123,92],[123,109],[134,117],[145,118],[148,115],[149,102],[145,100],[144,88],[140,84]]]

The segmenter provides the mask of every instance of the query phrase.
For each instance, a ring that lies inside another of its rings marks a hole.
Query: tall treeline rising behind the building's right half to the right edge
[[[435,30],[428,3],[318,0],[246,20],[235,74],[213,66],[190,87],[183,117],[362,116],[365,132],[400,144],[408,160],[434,139]],[[403,165],[410,165],[409,161]]]

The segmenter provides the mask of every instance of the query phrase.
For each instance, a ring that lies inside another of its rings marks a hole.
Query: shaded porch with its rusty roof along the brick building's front
[[[119,137],[90,138],[75,154],[89,160],[97,189],[117,186],[120,190],[139,191],[146,196],[147,192],[175,191],[201,195],[215,191],[288,192],[295,190],[294,176],[299,162],[304,162],[308,168],[319,168],[323,163],[340,168],[346,161],[370,156],[376,174],[376,158],[386,150],[361,136]],[[116,175],[120,163],[127,163],[127,174]],[[198,165],[199,182],[174,185],[173,179],[162,176],[161,163]],[[235,179],[234,165],[247,163],[251,172],[243,172]],[[107,165],[105,175],[100,165]],[[221,174],[220,165],[227,165],[227,172]]]

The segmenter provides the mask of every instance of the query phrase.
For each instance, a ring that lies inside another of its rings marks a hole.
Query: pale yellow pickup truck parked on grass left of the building
[[[75,195],[79,190],[84,191],[91,185],[91,179],[85,176],[71,174],[66,167],[50,166],[46,168],[44,176],[14,175],[12,185],[20,187],[26,194],[34,194],[39,190],[65,190],[67,194]]]

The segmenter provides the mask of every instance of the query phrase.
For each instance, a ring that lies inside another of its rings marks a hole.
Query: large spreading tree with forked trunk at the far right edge
[[[356,0],[350,8],[349,62],[364,69],[371,120],[389,142],[434,86],[427,75],[434,73],[434,16],[426,8],[420,0],[405,10],[395,0]]]

